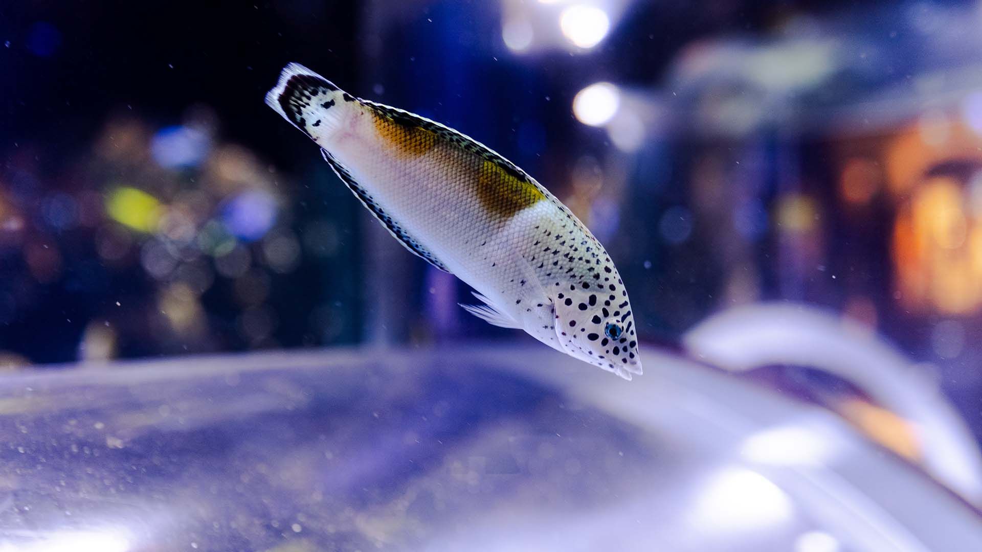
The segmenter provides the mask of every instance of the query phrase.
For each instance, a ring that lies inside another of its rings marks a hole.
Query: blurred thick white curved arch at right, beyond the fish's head
[[[868,330],[806,305],[753,304],[710,317],[682,342],[730,370],[793,364],[852,382],[910,423],[925,469],[982,505],[982,454],[964,421],[933,381]]]

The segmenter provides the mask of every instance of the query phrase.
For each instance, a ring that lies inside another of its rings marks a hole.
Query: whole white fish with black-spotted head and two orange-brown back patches
[[[266,104],[411,252],[473,288],[464,309],[625,379],[642,373],[627,289],[555,195],[464,134],[355,97],[298,63]]]

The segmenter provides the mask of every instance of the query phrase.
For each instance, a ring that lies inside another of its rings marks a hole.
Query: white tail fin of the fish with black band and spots
[[[266,105],[300,131],[316,138],[337,127],[342,110],[331,108],[351,97],[335,83],[299,63],[289,63],[276,85],[266,92]]]

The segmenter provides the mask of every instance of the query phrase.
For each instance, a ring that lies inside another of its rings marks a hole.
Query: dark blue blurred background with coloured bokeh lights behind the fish
[[[0,366],[529,341],[262,103],[298,61],[556,193],[648,347],[759,368],[982,505],[979,28],[974,0],[4,3]],[[736,331],[772,314],[814,359]]]

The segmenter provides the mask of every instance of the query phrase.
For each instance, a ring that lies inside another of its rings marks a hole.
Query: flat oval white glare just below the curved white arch
[[[772,466],[821,466],[834,453],[827,437],[804,425],[766,429],[751,435],[740,447],[746,460]]]

